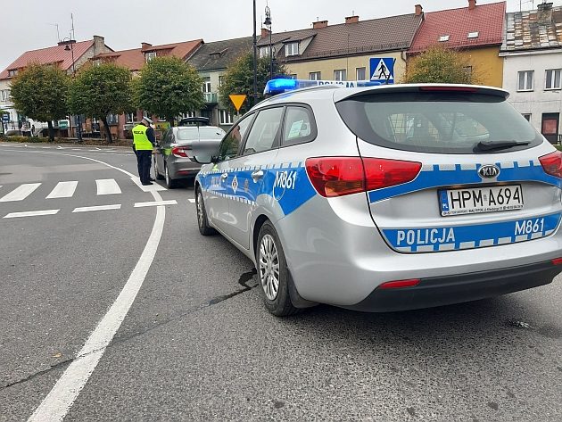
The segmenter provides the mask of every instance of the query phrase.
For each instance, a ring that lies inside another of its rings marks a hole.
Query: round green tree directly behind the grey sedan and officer
[[[202,108],[202,79],[178,57],[156,57],[145,64],[136,83],[136,101],[145,110],[166,118],[171,126],[182,112]]]

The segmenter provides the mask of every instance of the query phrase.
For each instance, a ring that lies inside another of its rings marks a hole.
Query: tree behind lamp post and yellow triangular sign
[[[263,89],[270,79],[269,57],[261,57],[257,63],[257,79],[258,79],[258,102],[263,99]],[[276,76],[285,76],[287,71],[285,66],[273,63],[273,74]],[[239,57],[227,68],[227,72],[222,79],[219,87],[220,97],[224,99],[230,111],[235,111],[234,105],[228,100],[228,95],[241,94],[248,95],[248,100],[244,103],[241,111],[248,111],[252,107],[253,96],[253,53],[244,54]]]

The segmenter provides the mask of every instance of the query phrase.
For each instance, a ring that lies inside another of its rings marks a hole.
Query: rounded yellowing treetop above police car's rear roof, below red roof
[[[466,56],[434,46],[408,63],[403,83],[477,84],[478,77]]]

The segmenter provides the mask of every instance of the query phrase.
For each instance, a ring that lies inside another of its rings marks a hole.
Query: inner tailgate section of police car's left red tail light
[[[411,182],[421,170],[417,161],[364,158],[363,163],[368,191]]]

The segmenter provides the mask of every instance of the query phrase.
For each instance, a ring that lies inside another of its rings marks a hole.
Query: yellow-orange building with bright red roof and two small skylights
[[[467,71],[479,84],[502,87],[505,13],[506,2],[477,5],[476,0],[468,0],[467,7],[425,12],[409,59],[433,46],[454,49],[467,58]]]

